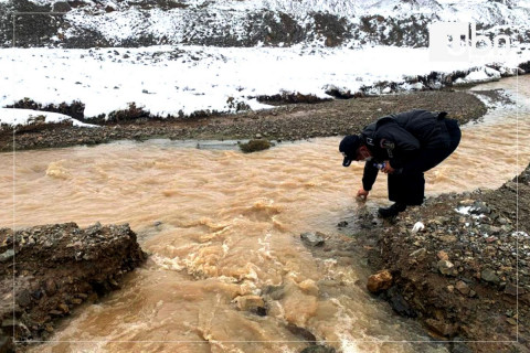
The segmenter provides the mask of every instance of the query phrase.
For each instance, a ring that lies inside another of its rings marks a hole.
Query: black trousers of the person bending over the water
[[[462,132],[458,121],[446,119],[451,142],[446,148],[423,149],[416,159],[409,162],[399,174],[389,174],[389,200],[406,205],[421,205],[425,199],[424,172],[438,165],[453,153],[460,143]]]

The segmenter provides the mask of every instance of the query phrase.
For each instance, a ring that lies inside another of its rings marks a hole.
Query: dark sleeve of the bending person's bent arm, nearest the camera
[[[393,143],[390,165],[394,169],[403,165],[413,159],[420,151],[420,141],[398,124],[386,124],[378,131],[378,140],[381,143]],[[383,146],[381,146],[383,148]]]

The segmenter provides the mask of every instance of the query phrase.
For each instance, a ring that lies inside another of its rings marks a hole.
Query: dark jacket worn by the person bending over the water
[[[446,113],[411,110],[380,118],[361,131],[361,139],[373,156],[364,165],[362,184],[370,191],[378,169],[375,162],[390,161],[399,173],[422,149],[445,149],[451,137],[445,125]]]

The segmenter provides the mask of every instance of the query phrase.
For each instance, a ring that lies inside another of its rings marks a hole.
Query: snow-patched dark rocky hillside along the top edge
[[[427,24],[463,21],[480,33],[530,38],[530,0],[0,0],[0,44],[63,47],[426,46]]]

